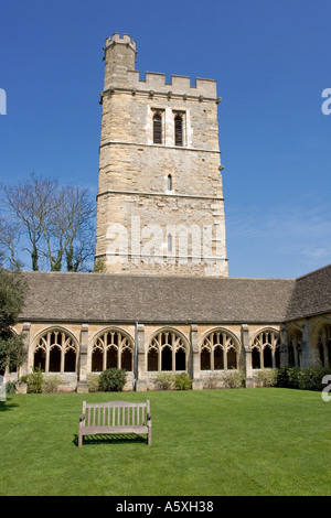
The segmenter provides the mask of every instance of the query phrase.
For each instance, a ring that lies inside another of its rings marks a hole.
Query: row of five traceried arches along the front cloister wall
[[[39,367],[45,374],[76,374],[78,380],[86,378],[88,373],[114,367],[126,369],[132,379],[138,371],[140,379],[151,379],[160,371],[189,371],[193,378],[203,379],[207,373],[222,375],[225,370],[245,368],[249,353],[253,369],[280,365],[277,328],[254,333],[248,352],[238,330],[209,328],[197,337],[197,347],[193,347],[189,331],[158,327],[149,334],[143,333],[148,336],[138,350],[132,330],[110,325],[90,334],[83,350],[79,333],[64,326],[45,327],[29,344],[28,370]]]

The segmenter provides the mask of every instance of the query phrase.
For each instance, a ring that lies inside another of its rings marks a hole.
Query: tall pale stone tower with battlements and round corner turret
[[[108,272],[227,277],[216,83],[135,69],[106,40],[96,260]]]

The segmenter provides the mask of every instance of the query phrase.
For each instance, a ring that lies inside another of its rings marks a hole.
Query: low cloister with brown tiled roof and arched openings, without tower
[[[299,279],[24,272],[17,331],[28,363],[86,389],[88,373],[127,369],[127,389],[160,371],[188,371],[193,388],[227,369],[246,386],[261,368],[331,367],[331,266]],[[215,380],[215,379],[214,379]]]

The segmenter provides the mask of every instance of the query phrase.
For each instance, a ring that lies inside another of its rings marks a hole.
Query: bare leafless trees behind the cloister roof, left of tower
[[[86,268],[95,231],[95,204],[87,190],[61,187],[32,173],[2,192],[7,217],[0,220],[0,246],[10,265],[21,266],[18,251],[26,250],[32,270]]]

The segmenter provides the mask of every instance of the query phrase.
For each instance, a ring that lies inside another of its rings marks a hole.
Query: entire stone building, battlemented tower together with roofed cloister
[[[96,261],[103,273],[23,272],[15,327],[40,366],[78,391],[90,373],[127,370],[128,390],[160,371],[193,389],[231,369],[331,366],[331,266],[299,279],[228,278],[216,84],[135,69],[136,42],[106,40]]]

